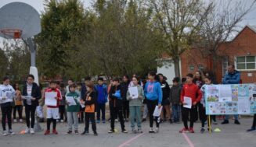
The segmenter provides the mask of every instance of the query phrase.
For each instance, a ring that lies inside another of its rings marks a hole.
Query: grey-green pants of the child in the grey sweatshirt
[[[131,127],[135,128],[135,119],[136,119],[138,128],[142,128],[141,107],[139,107],[139,106],[130,106],[129,109],[130,109]]]

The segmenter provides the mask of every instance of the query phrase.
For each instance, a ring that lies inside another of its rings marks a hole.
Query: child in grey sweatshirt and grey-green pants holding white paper
[[[139,78],[134,76],[132,78],[133,86],[131,86],[127,91],[127,100],[129,100],[129,108],[130,108],[130,119],[131,119],[131,127],[132,132],[136,133],[135,131],[135,119],[138,126],[138,132],[142,133],[142,114],[141,114],[141,107],[142,107],[142,100],[144,99],[144,92],[142,86],[138,84]],[[134,93],[133,90],[136,90]]]

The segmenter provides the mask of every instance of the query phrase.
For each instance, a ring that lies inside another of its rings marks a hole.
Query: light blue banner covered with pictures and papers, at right
[[[256,85],[233,84],[205,87],[206,114],[256,114]]]

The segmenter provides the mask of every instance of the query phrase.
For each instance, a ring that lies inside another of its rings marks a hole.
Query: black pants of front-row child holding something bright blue
[[[114,130],[114,120],[116,119],[116,117],[119,117],[119,121],[121,124],[121,129],[124,130],[124,117],[123,117],[123,111],[122,111],[122,107],[114,107],[114,106],[110,106],[110,120],[111,120],[111,129]]]

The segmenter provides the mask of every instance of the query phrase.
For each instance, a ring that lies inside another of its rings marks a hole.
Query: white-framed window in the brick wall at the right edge
[[[250,70],[255,68],[255,56],[236,57],[236,69]]]

